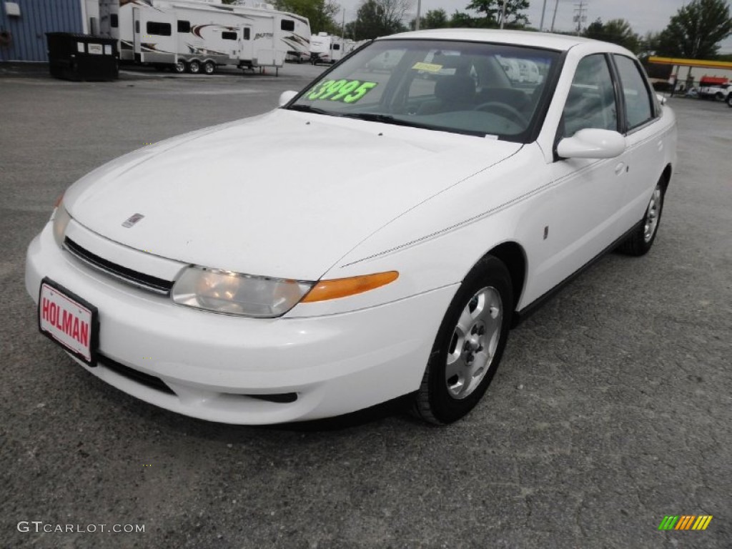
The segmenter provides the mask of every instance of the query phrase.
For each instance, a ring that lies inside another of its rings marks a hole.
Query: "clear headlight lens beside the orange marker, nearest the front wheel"
[[[257,317],[284,315],[302,299],[311,282],[255,277],[193,266],[173,285],[173,302],[215,313]]]

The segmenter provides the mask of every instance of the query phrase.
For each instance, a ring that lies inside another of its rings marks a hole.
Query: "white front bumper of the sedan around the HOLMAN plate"
[[[51,224],[31,242],[26,290],[50,277],[99,309],[99,352],[160,378],[170,391],[121,370],[84,367],[161,408],[235,424],[346,414],[419,388],[456,285],[378,307],[310,318],[242,318],[173,305],[102,275],[59,249]],[[80,362],[81,364],[81,362]],[[295,393],[294,402],[253,395]]]

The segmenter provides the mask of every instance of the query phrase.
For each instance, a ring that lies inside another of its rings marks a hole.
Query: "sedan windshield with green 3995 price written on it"
[[[448,40],[378,40],[288,108],[526,142],[556,51]]]

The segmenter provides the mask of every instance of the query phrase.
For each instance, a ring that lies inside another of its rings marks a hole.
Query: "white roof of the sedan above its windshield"
[[[377,40],[391,38],[427,38],[433,40],[468,40],[471,42],[494,42],[498,44],[526,45],[535,48],[549,48],[558,51],[567,51],[579,44],[594,43],[597,40],[569,36],[566,34],[550,34],[547,32],[531,31],[503,31],[498,29],[430,29],[425,31],[402,32],[381,37]]]

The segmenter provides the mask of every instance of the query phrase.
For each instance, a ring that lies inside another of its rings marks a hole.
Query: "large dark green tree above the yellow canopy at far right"
[[[658,55],[712,59],[720,42],[732,34],[732,18],[725,0],[693,0],[673,15],[661,32]]]

